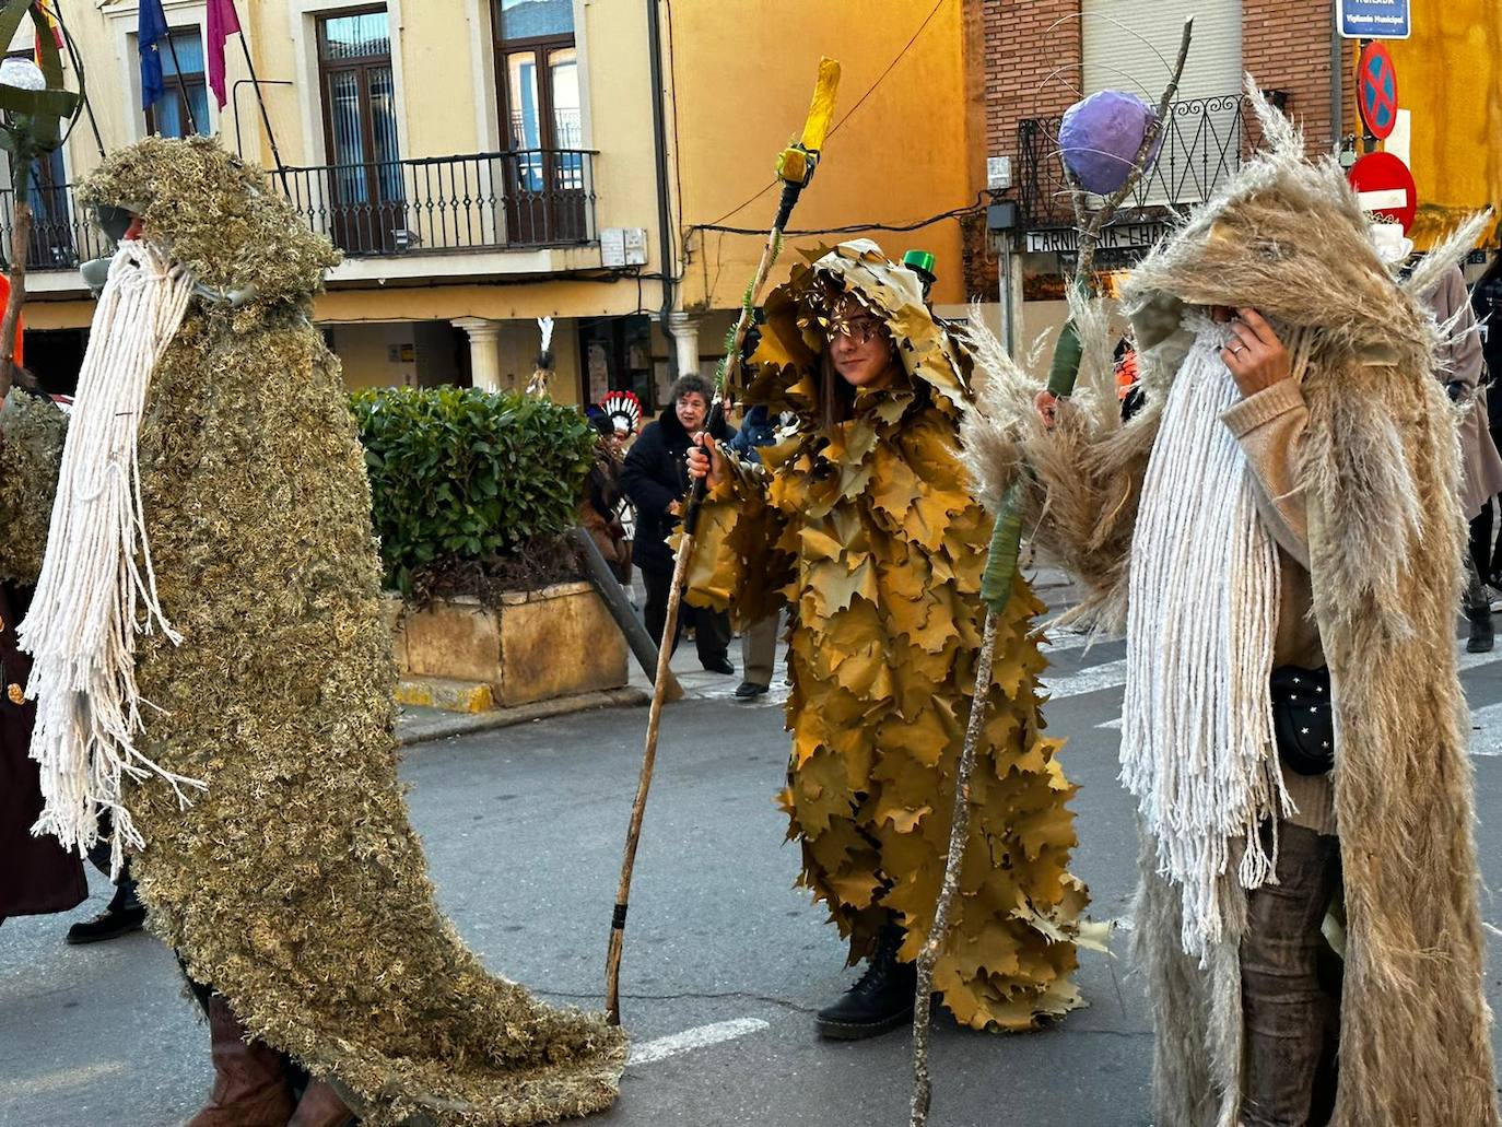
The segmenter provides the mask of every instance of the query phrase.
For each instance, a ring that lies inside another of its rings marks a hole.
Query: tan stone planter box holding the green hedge
[[[584,582],[511,592],[502,595],[499,609],[467,597],[406,613],[391,597],[388,607],[404,682],[461,687],[458,703],[419,702],[410,694],[407,703],[473,712],[626,684],[626,640]]]

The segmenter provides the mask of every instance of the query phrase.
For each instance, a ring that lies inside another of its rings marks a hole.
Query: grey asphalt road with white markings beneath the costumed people
[[[691,649],[691,646],[688,648]],[[1472,660],[1479,841],[1502,879],[1502,652]],[[680,654],[682,658],[682,654]],[[1081,838],[1092,914],[1128,914],[1131,807],[1116,784],[1120,643],[1060,649],[1053,730]],[[852,975],[822,912],[792,888],[796,851],[774,807],[787,756],[777,700],[722,699],[725,679],[664,717],[637,861],[623,1016],[637,1058],[601,1124],[906,1124],[910,1037],[825,1043],[813,1011]],[[709,693],[706,696],[704,693]],[[581,714],[412,748],[403,775],[445,909],[487,963],[539,995],[599,1007],[610,906],[644,709]],[[171,956],[134,935],[71,948],[68,917],[0,929],[0,1124],[165,1127],[210,1083],[207,1031]],[[1502,908],[1488,896],[1490,921]],[[1494,933],[1493,933],[1494,935]],[[1149,1122],[1149,1017],[1126,962],[1086,953],[1090,1002],[1056,1028],[985,1035],[940,1019],[934,1127]],[[1494,962],[1494,960],[1493,960]],[[1502,983],[1488,975],[1493,1004]]]

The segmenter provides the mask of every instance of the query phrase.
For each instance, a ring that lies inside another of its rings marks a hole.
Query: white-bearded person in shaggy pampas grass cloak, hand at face
[[[1494,1127],[1457,419],[1419,301],[1485,216],[1400,286],[1335,161],[1250,98],[1268,150],[1123,287],[1142,409],[1101,302],[1057,403],[973,331],[969,463],[990,505],[1021,488],[1075,618],[1126,630],[1157,1122]]]

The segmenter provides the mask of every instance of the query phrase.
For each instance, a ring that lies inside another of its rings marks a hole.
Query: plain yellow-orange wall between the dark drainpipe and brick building
[[[963,0],[713,0],[673,9],[676,105],[685,227],[716,222],[772,180],[777,153],[798,135],[822,54],[843,66],[838,122],[898,56],[880,86],[834,132],[793,228],[853,222],[904,224],[975,201],[966,135],[967,72]],[[725,225],[765,230],[777,189]],[[859,237],[826,236],[823,242]],[[871,233],[892,257],[922,246],[939,257],[936,301],[966,301],[961,239],[954,221],[912,233]],[[733,307],[765,239],[694,233],[685,302]],[[775,279],[817,237],[790,239]]]

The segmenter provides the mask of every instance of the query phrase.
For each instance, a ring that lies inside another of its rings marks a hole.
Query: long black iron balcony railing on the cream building
[[[430,156],[267,173],[299,222],[350,258],[581,246],[598,240],[592,150]],[[33,188],[29,269],[74,270],[110,252],[74,185]],[[15,192],[0,191],[9,249]]]

